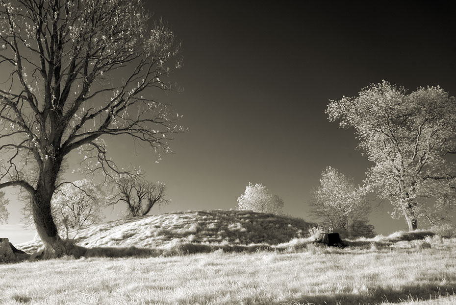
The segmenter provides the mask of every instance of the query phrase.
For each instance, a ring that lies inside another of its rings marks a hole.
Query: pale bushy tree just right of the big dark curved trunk
[[[88,179],[60,186],[51,201],[57,228],[79,229],[99,222],[105,201],[101,189]]]

